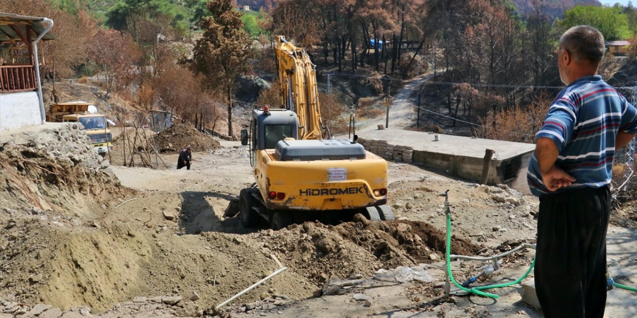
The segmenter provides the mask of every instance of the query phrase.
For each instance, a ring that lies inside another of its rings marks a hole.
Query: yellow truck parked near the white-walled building
[[[89,112],[87,102],[61,102],[51,105],[47,121],[55,123],[81,123],[90,138],[93,149],[101,156],[113,149],[113,137],[103,114]]]

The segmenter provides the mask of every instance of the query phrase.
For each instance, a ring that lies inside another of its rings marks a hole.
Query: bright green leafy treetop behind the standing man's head
[[[568,29],[582,24],[596,27],[606,41],[631,37],[628,17],[622,13],[622,8],[616,6],[576,6],[564,12],[562,27]]]

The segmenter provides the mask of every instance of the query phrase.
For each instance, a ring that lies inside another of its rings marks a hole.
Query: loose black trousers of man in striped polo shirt
[[[547,318],[602,318],[610,191],[585,188],[540,198],[535,285]]]

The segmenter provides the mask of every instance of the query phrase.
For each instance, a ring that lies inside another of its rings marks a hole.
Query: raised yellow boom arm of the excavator
[[[316,66],[305,50],[283,36],[278,36],[275,52],[281,104],[297,114],[299,139],[322,139]]]

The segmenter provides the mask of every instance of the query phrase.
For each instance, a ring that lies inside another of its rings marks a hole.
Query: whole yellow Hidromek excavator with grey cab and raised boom
[[[225,211],[245,227],[269,222],[274,230],[318,219],[349,221],[356,213],[392,220],[387,203],[387,162],[349,139],[324,139],[315,65],[283,36],[276,43],[282,107],[252,111],[249,145],[255,183]]]

